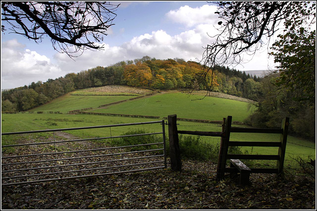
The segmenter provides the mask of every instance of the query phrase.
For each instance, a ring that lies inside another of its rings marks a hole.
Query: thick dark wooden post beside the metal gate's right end
[[[178,132],[176,126],[177,116],[168,115],[168,137],[169,137],[169,157],[171,163],[171,169],[182,171],[182,161],[180,158]]]

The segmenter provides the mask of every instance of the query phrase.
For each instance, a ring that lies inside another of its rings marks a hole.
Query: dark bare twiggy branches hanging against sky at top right
[[[308,1],[220,1],[218,6],[218,34],[215,42],[205,47],[202,62],[204,71],[197,87],[208,72],[216,66],[235,65],[243,62],[243,54],[254,55],[270,38],[303,28],[310,31],[316,22],[316,3]],[[277,60],[275,60],[277,61]],[[280,71],[284,71],[281,69]],[[298,72],[297,72],[298,73]],[[212,74],[211,74],[212,75]],[[213,85],[211,84],[210,90]]]

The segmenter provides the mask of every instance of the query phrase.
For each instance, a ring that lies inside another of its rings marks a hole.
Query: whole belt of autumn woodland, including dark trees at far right
[[[150,87],[153,89],[191,89],[197,82],[203,66],[197,62],[174,58],[160,60],[144,56],[141,59],[121,61],[108,67],[95,67],[47,82],[32,82],[28,86],[2,91],[1,110],[26,111],[43,105],[68,92],[110,84]],[[255,101],[255,112],[246,120],[253,127],[280,127],[284,117],[291,118],[290,132],[305,138],[315,137],[315,104],[294,100],[294,94],[275,85],[279,74],[264,78],[252,76],[229,67],[217,66],[213,76],[200,84],[206,90],[240,96]],[[300,92],[300,90],[299,90]]]

